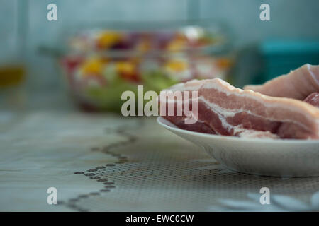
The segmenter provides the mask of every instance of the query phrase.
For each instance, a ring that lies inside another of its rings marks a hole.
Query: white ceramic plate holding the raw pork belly
[[[228,169],[265,176],[319,176],[319,140],[238,138],[179,129],[162,117],[157,122],[200,146]]]

